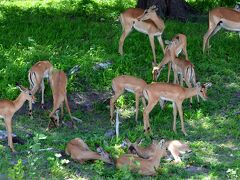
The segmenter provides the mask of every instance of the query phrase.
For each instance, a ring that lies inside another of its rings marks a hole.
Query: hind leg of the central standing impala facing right
[[[157,104],[158,100],[148,101],[147,107],[143,111],[143,123],[144,123],[144,132],[147,133],[151,131],[149,124],[149,113],[152,111],[154,106]]]

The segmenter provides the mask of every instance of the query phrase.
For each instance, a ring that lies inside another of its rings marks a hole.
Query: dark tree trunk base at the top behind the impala
[[[196,11],[184,0],[138,0],[137,7],[147,9],[152,5],[158,7],[157,14],[161,17],[187,20]]]

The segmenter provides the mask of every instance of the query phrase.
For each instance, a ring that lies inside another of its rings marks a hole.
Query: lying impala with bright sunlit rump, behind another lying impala
[[[139,146],[139,143],[131,143],[128,139],[126,140],[126,143],[130,152],[136,153],[141,158],[148,159],[154,154],[154,144],[151,144],[148,147],[141,147]],[[181,154],[191,152],[187,144],[178,140],[166,141],[164,146],[173,156],[175,163],[181,162]]]

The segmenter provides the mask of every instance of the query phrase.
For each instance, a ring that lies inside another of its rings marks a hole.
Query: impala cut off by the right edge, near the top
[[[240,12],[232,8],[219,7],[209,12],[208,31],[203,38],[203,53],[209,48],[209,39],[221,28],[240,32]]]

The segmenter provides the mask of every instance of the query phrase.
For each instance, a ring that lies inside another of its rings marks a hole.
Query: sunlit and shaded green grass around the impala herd
[[[70,97],[89,89],[110,91],[112,78],[121,74],[141,77],[150,83],[153,58],[146,35],[133,31],[125,41],[124,56],[118,54],[122,28],[117,17],[121,11],[131,6],[134,6],[134,1],[1,1],[0,97],[14,99],[19,94],[15,82],[29,86],[28,70],[43,59],[49,59],[55,68],[65,72],[74,65],[81,66],[80,73],[69,79]],[[181,133],[179,118],[178,133],[172,132],[170,104],[164,111],[156,106],[150,113],[155,138],[188,141],[193,151],[190,159],[180,165],[162,162],[157,178],[237,179],[240,176],[238,34],[221,31],[211,39],[210,53],[203,55],[202,37],[207,31],[207,22],[181,23],[166,20],[165,23],[163,38],[171,39],[176,33],[186,34],[189,58],[195,65],[198,80],[212,82],[213,86],[208,91],[209,100],[201,101],[200,107],[197,107],[196,98],[193,109],[189,109],[189,101],[185,101],[184,121],[189,134],[187,137]],[[157,41],[156,48],[157,60],[160,62],[163,54]],[[110,68],[93,70],[96,63],[108,60],[113,62]],[[164,70],[160,80],[166,79],[167,70]],[[51,102],[49,86],[46,92],[46,101]],[[39,94],[37,98],[39,104]],[[134,96],[126,93],[117,106],[124,109],[127,116],[127,111],[134,107]],[[27,103],[23,109],[26,108]],[[58,151],[63,151],[66,143],[75,137],[81,137],[93,149],[94,143],[100,143],[112,156],[122,153],[118,145],[126,136],[131,140],[145,137],[142,133],[142,110],[137,124],[133,113],[130,113],[130,117],[121,118],[119,140],[104,137],[106,130],[113,128],[109,123],[109,107],[106,103],[95,103],[94,109],[87,112],[79,106],[76,110],[72,109],[73,114],[83,120],[76,130],[62,127],[46,132],[48,110],[35,108],[33,120],[23,112],[14,116],[13,132],[26,143],[15,144],[19,153],[13,155],[5,146],[6,142],[1,142],[0,178],[2,174],[12,179],[142,178],[98,161],[80,165],[69,157],[59,158],[55,155]],[[2,121],[0,129],[5,129]],[[29,138],[27,132],[31,132],[34,138]],[[149,138],[147,140],[150,141]],[[37,151],[45,148],[54,150]],[[69,159],[70,162],[65,163],[63,159]],[[205,168],[207,173],[189,173],[185,170],[188,165]]]

